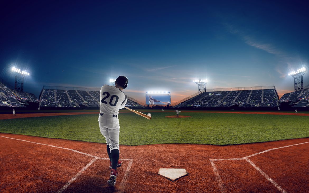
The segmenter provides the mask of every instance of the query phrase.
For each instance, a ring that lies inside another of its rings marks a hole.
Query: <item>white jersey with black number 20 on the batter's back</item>
[[[100,90],[100,113],[118,115],[119,109],[125,108],[127,95],[115,86],[103,85]]]

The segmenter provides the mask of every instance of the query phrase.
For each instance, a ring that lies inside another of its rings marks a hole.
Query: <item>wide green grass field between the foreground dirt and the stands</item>
[[[309,137],[307,116],[185,113],[191,118],[165,118],[154,112],[148,120],[119,114],[120,144],[195,143],[230,145]],[[0,132],[105,143],[98,115],[65,115],[0,120]]]

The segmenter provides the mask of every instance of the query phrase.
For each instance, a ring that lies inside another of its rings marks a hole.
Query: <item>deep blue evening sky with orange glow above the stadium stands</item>
[[[237,2],[237,3],[235,3]],[[24,91],[43,85],[99,88],[129,79],[125,93],[171,91],[175,103],[206,88],[275,85],[309,61],[306,1],[21,1],[0,6],[0,77]],[[308,73],[304,86],[309,83]]]

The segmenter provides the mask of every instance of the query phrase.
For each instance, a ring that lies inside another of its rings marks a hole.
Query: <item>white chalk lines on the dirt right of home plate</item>
[[[220,177],[220,174],[218,172],[218,169],[214,163],[214,161],[226,161],[226,160],[246,160],[251,166],[253,166],[258,172],[260,172],[260,174],[262,174],[270,183],[272,183],[280,192],[282,193],[286,193],[286,191],[281,187],[279,186],[279,184],[277,184],[272,178],[270,178],[263,170],[261,170],[258,166],[256,166],[248,157],[252,157],[252,156],[255,156],[255,155],[258,155],[258,154],[261,154],[261,153],[265,153],[265,152],[269,152],[269,151],[272,151],[272,150],[276,150],[276,149],[281,149],[281,148],[286,148],[286,147],[291,147],[291,146],[295,146],[295,145],[301,145],[301,144],[306,144],[306,143],[309,143],[309,141],[307,142],[304,142],[304,143],[298,143],[298,144],[294,144],[294,145],[286,145],[286,146],[283,146],[283,147],[277,147],[277,148],[272,148],[272,149],[268,149],[268,150],[265,150],[265,151],[261,151],[259,153],[255,153],[255,154],[252,154],[252,155],[248,155],[248,156],[245,156],[245,157],[242,157],[242,158],[228,158],[228,159],[210,159],[210,163],[211,163],[211,166],[214,170],[214,174],[216,176],[216,179],[217,179],[217,183],[218,183],[218,186],[220,188],[220,191],[222,193],[225,193],[226,192],[226,188],[222,182],[222,179]]]

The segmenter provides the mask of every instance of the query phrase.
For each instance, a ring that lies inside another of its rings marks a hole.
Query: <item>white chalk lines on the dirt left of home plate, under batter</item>
[[[22,140],[22,139],[15,139],[15,138],[11,138],[11,137],[5,137],[5,136],[0,136],[0,137],[4,137],[4,138],[8,138],[8,139],[13,139],[13,140],[18,140],[18,141],[25,141],[25,142],[29,142],[29,143],[34,143],[34,144],[39,144],[39,145],[45,145],[45,146],[49,146],[49,147],[55,147],[55,148],[59,148],[59,149],[66,149],[66,150],[69,150],[69,151],[73,151],[73,152],[76,152],[76,153],[80,153],[80,154],[83,154],[83,155],[87,155],[87,156],[90,156],[90,157],[94,157],[86,166],[83,167],[82,170],[80,170],[77,174],[75,174],[63,187],[60,188],[60,190],[57,191],[57,193],[62,193],[67,187],[69,187],[81,174],[83,174],[83,172],[85,170],[87,170],[87,168],[89,166],[91,166],[96,160],[109,160],[109,158],[103,158],[103,157],[98,157],[98,156],[94,156],[94,155],[91,155],[91,154],[88,154],[88,153],[84,153],[84,152],[81,152],[81,151],[77,151],[77,150],[74,150],[74,149],[69,149],[69,148],[64,148],[64,147],[58,147],[58,146],[55,146],[55,145],[48,145],[48,144],[43,144],[43,143],[37,143],[37,142],[33,142],[33,141],[26,141],[26,140]],[[127,169],[125,170],[125,174],[124,174],[124,177],[122,178],[121,180],[121,183],[120,183],[120,187],[119,187],[119,192],[118,193],[122,193],[124,190],[125,190],[125,184],[127,182],[127,179],[129,177],[129,173],[130,173],[130,170],[131,170],[131,166],[132,166],[132,163],[133,163],[133,159],[119,159],[119,160],[125,160],[125,161],[130,161],[128,166],[127,166]]]

